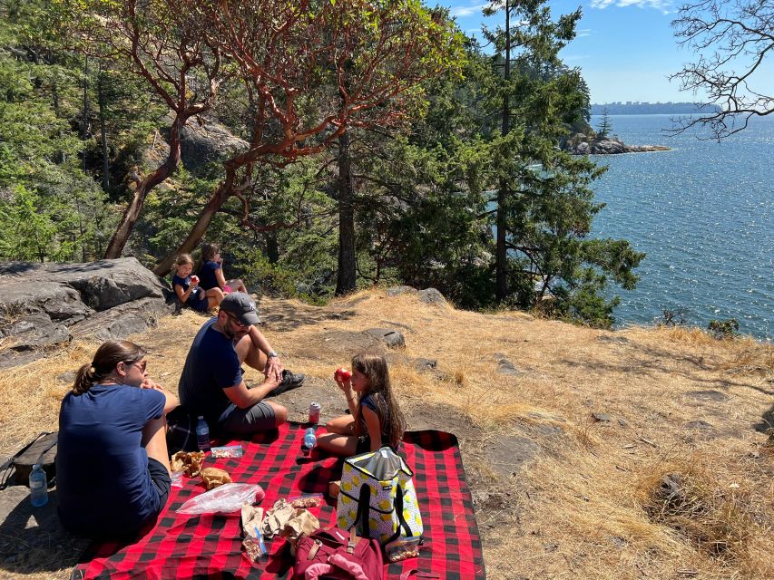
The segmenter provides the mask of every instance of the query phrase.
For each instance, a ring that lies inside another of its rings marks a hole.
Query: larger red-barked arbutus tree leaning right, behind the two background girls
[[[223,162],[224,179],[188,237],[156,266],[157,275],[169,272],[174,256],[196,247],[230,198],[240,200],[243,227],[292,226],[251,221],[253,191],[260,190],[257,163],[282,166],[317,154],[348,128],[407,122],[424,105],[420,83],[456,68],[463,57],[462,36],[446,14],[414,0],[181,5],[188,18],[206,23],[206,43],[243,82],[253,131],[250,148]],[[348,201],[340,199],[339,206],[339,217],[351,220]]]

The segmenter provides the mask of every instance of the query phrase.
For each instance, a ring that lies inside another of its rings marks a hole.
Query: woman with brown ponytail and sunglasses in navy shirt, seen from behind
[[[145,365],[142,347],[108,341],[64,396],[56,489],[59,517],[74,534],[132,536],[169,497],[165,414],[178,401]]]

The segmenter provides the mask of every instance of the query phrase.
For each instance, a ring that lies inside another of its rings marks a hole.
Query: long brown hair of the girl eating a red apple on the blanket
[[[390,447],[397,448],[403,440],[403,431],[406,430],[406,419],[400,412],[400,407],[392,394],[392,386],[389,382],[389,370],[387,361],[380,354],[361,353],[352,358],[352,369],[366,375],[370,388],[368,391],[358,393],[358,416],[355,418],[355,434],[365,435],[363,432],[362,409],[363,399],[367,395],[376,403],[379,424],[382,433],[387,435]]]

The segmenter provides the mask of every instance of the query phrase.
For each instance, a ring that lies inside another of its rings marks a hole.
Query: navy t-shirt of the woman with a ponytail
[[[136,531],[161,510],[141,447],[142,429],[164,412],[160,391],[95,384],[64,396],[56,493],[64,527],[86,536]]]

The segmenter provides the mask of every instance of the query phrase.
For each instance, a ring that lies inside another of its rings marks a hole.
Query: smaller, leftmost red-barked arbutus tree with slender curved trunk
[[[132,178],[132,199],[106,258],[121,256],[148,194],[180,165],[183,126],[211,110],[228,77],[218,46],[208,42],[202,23],[191,18],[190,5],[187,0],[54,0],[57,32],[66,43],[139,75],[171,112],[169,153],[159,167]]]

